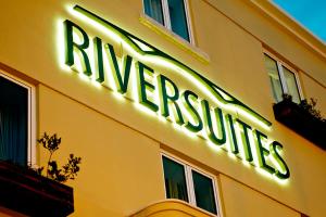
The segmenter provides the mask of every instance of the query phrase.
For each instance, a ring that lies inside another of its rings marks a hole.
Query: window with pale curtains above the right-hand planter
[[[267,54],[265,54],[265,66],[275,102],[283,101],[283,94],[286,93],[292,97],[293,102],[300,103],[302,98],[294,71],[290,71],[288,66],[275,61]]]

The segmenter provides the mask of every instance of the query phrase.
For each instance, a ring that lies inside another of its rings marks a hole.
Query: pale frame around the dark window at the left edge
[[[34,166],[36,164],[36,94],[35,86],[25,80],[22,80],[9,73],[0,69],[0,76],[27,89],[27,165]]]

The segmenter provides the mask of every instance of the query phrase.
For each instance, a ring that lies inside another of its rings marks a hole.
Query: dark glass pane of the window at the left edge
[[[0,159],[27,163],[28,91],[0,76]]]

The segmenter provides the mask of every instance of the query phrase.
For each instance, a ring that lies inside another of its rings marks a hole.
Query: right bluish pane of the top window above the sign
[[[189,41],[184,0],[168,0],[167,2],[172,30]]]

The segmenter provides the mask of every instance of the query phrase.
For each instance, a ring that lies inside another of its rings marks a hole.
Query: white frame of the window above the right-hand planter
[[[294,78],[296,78],[296,85],[297,85],[298,92],[299,92],[299,98],[300,98],[300,100],[304,100],[304,95],[303,95],[303,91],[302,91],[302,88],[301,88],[301,85],[300,85],[298,71],[296,71],[294,68],[292,68],[288,64],[284,63],[283,61],[280,61],[278,58],[276,58],[274,54],[272,54],[268,51],[264,51],[264,55],[269,56],[277,64],[277,71],[278,71],[277,73],[278,73],[278,76],[279,76],[279,79],[280,79],[280,86],[281,86],[281,89],[283,89],[283,93],[284,94],[289,94],[289,89],[288,89],[286,78],[285,78],[285,75],[284,75],[284,69],[283,69],[283,67],[286,67],[291,73],[293,73]]]

